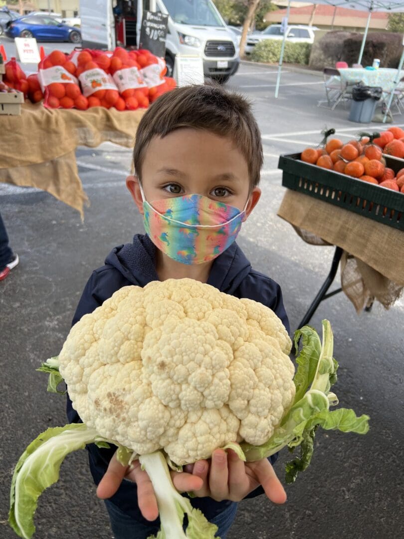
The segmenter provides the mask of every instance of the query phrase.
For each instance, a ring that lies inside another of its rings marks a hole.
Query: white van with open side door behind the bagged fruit
[[[156,10],[168,14],[165,61],[172,75],[176,54],[203,59],[206,77],[226,82],[239,68],[238,39],[228,29],[212,0],[155,0]],[[149,2],[80,0],[82,46],[114,49],[136,46],[143,9]]]

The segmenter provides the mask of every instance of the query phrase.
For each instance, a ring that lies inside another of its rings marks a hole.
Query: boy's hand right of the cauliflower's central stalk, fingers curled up
[[[282,483],[267,459],[243,462],[234,451],[228,450],[226,454],[222,449],[217,449],[212,459],[198,460],[195,464],[185,466],[185,471],[203,479],[203,486],[194,493],[197,497],[210,496],[216,501],[238,502],[262,485],[271,501],[286,501]]]

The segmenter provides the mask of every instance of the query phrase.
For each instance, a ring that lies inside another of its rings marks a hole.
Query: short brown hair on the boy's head
[[[218,85],[194,85],[166,92],[140,121],[133,152],[135,174],[141,180],[145,150],[155,136],[188,127],[229,137],[248,164],[250,189],[260,182],[262,142],[250,103]]]

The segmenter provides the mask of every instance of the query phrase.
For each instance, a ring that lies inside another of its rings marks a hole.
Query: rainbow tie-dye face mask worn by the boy
[[[245,208],[212,201],[203,195],[184,195],[147,202],[144,228],[156,247],[182,264],[202,264],[218,257],[236,239]],[[248,201],[247,201],[248,202]]]

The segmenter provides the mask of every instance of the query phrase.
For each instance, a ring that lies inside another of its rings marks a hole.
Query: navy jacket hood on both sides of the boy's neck
[[[105,263],[118,269],[124,278],[137,286],[158,281],[155,265],[156,246],[146,234],[135,234],[133,243],[114,247]],[[231,294],[248,275],[251,265],[234,242],[214,259],[208,285]]]

